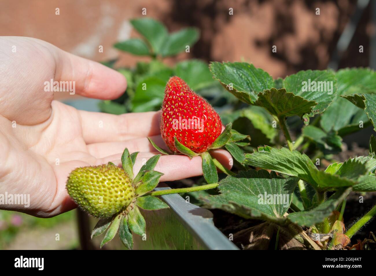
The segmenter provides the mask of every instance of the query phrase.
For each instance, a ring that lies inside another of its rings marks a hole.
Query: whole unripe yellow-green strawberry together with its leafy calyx
[[[138,152],[129,154],[128,149],[125,149],[121,156],[121,168],[109,162],[108,165],[76,168],[68,177],[67,190],[72,199],[81,209],[100,218],[91,238],[108,229],[100,247],[111,241],[119,232],[123,244],[132,249],[131,231],[137,235],[146,232],[145,219],[139,208],[168,208],[158,197],[147,195],[154,190],[163,175],[153,170],[161,155],[150,158],[133,177],[133,165],[137,154]],[[77,174],[78,172],[80,174]]]

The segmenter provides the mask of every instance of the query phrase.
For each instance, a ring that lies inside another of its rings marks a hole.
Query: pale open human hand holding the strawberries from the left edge
[[[143,162],[158,154],[146,137],[166,148],[159,112],[111,115],[80,111],[44,91],[44,82],[50,79],[74,81],[76,94],[95,99],[116,99],[127,86],[117,71],[45,41],[1,37],[0,194],[30,194],[30,206],[0,205],[0,209],[37,217],[61,214],[76,208],[65,189],[74,168],[109,161],[120,166],[127,147],[131,153],[140,152],[133,168],[137,173]],[[213,156],[231,167],[228,152],[215,150]],[[155,170],[164,173],[161,181],[199,176],[201,157],[161,156]]]

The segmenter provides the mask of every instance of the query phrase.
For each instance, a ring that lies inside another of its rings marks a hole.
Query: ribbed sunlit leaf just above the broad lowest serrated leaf
[[[246,153],[246,159],[243,164],[299,177],[314,187],[317,187],[317,183],[311,177],[308,168],[308,164],[312,166],[314,166],[314,164],[308,156],[296,150],[290,151],[286,148],[274,149],[269,147],[268,150],[270,151],[258,150],[258,152],[255,153]]]

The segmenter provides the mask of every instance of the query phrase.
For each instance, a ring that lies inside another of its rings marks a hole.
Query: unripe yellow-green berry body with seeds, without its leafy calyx
[[[94,217],[112,217],[127,208],[135,198],[132,179],[114,165],[82,167],[67,180],[71,198]]]

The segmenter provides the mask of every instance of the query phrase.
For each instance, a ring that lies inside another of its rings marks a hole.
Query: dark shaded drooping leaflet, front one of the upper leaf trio
[[[277,117],[290,117],[297,115],[302,117],[304,114],[312,112],[312,106],[317,105],[314,101],[307,101],[302,97],[295,96],[291,92],[286,92],[285,88],[265,90],[258,94],[256,105],[262,106],[272,115]]]

